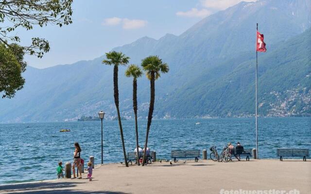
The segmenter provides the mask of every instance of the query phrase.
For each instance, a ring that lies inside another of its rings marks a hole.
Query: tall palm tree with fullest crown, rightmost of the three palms
[[[149,56],[142,60],[141,62],[142,69],[146,72],[147,78],[150,80],[150,104],[149,104],[149,113],[148,113],[148,123],[147,123],[147,132],[146,132],[146,142],[145,149],[147,150],[148,144],[148,135],[149,129],[152,121],[152,114],[154,112],[155,106],[155,80],[160,77],[160,73],[169,72],[170,68],[166,63],[163,63],[158,56]],[[142,165],[145,164],[146,151],[144,151]]]

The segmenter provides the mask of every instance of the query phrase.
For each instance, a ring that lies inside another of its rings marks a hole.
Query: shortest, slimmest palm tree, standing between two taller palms
[[[136,132],[136,150],[137,150],[137,165],[139,166],[139,151],[138,151],[138,126],[137,126],[137,78],[142,76],[142,71],[137,65],[128,66],[125,71],[126,77],[133,77],[133,109],[135,114],[135,132]]]

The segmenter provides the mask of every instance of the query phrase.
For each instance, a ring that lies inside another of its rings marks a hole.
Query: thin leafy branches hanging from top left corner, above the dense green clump
[[[1,0],[0,1],[0,42],[9,46],[19,42],[17,35],[11,35],[18,27],[32,30],[34,26],[48,24],[69,25],[72,23],[71,3],[73,0]],[[7,25],[7,26],[6,26]],[[39,58],[50,50],[49,42],[43,38],[32,38],[32,45],[22,47],[25,53]]]

